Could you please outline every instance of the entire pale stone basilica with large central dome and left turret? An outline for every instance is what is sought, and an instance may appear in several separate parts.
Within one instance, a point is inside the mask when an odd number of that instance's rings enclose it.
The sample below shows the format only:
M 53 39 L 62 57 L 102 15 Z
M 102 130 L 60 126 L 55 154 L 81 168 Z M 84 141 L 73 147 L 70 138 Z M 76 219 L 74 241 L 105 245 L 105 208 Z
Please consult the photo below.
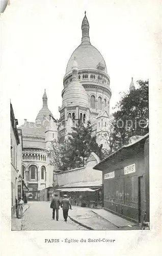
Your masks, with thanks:
M 47 156 L 52 139 L 62 143 L 71 132 L 71 127 L 82 120 L 90 121 L 98 144 L 103 144 L 99 134 L 109 125 L 110 76 L 101 53 L 91 45 L 89 22 L 82 22 L 82 40 L 69 58 L 64 76 L 60 119 L 56 120 L 48 109 L 46 92 L 42 98 L 42 109 L 35 122 L 24 119 L 22 130 L 22 178 L 30 191 L 52 186 L 53 166 Z M 107 146 L 106 144 L 103 146 Z

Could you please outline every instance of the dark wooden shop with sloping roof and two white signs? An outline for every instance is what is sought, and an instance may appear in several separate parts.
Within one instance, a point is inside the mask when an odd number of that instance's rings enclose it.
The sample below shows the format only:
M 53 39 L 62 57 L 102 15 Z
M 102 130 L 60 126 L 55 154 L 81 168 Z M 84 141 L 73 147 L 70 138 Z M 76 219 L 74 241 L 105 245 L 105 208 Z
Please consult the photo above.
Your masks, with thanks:
M 147 150 L 146 150 L 147 143 Z M 94 169 L 102 170 L 103 207 L 142 223 L 149 221 L 148 134 L 122 147 Z

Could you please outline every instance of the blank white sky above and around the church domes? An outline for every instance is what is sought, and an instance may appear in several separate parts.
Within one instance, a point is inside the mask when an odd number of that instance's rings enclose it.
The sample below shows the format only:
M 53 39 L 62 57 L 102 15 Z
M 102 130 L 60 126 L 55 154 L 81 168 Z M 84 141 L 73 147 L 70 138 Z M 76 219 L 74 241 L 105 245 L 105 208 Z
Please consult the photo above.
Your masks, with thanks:
M 24 119 L 35 121 L 44 89 L 48 108 L 59 119 L 63 77 L 81 42 L 85 11 L 91 44 L 102 54 L 110 76 L 113 112 L 131 77 L 136 87 L 137 80 L 149 78 L 157 8 L 149 0 L 11 0 L 0 17 L 0 90 L 11 99 L 19 125 Z

